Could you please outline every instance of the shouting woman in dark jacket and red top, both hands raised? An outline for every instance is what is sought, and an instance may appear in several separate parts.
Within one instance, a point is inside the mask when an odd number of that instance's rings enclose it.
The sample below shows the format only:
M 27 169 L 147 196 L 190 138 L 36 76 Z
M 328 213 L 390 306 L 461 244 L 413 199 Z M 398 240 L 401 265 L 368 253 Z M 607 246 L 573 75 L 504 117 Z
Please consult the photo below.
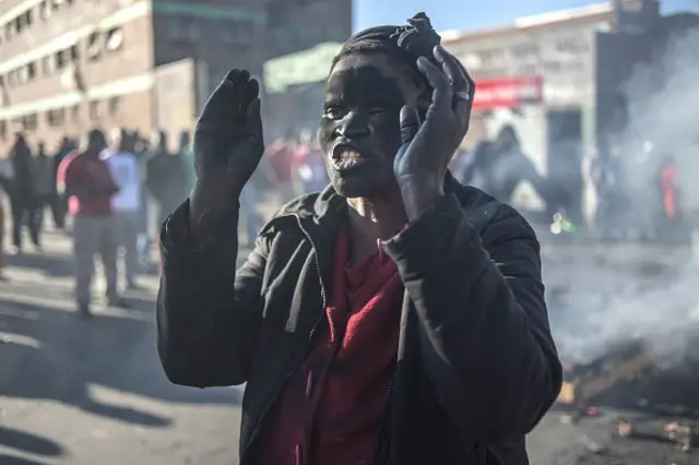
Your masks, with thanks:
M 211 95 L 163 226 L 157 346 L 174 383 L 246 383 L 241 465 L 529 463 L 561 366 L 534 231 L 447 169 L 474 91 L 424 13 L 353 36 L 318 130 L 330 186 L 237 271 L 259 86 L 234 69 Z

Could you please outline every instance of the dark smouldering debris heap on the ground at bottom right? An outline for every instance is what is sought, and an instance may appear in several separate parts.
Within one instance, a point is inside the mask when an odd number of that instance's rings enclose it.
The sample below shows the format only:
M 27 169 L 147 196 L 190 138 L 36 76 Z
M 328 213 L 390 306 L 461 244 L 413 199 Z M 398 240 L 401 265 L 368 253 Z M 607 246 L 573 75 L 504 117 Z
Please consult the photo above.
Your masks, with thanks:
M 695 458 L 670 462 L 664 458 L 690 454 L 699 443 L 697 385 L 696 363 L 685 360 L 663 366 L 651 345 L 633 342 L 618 345 L 590 363 L 566 370 L 557 404 L 572 410 L 564 417 L 568 418 L 565 422 L 574 422 L 581 431 L 600 429 L 606 419 L 611 427 L 607 442 L 590 441 L 594 446 L 587 448 L 588 454 L 612 454 L 626 464 L 635 463 L 633 456 L 643 456 L 640 451 L 654 449 L 666 451 L 660 453 L 662 465 L 697 463 L 686 462 Z M 583 418 L 588 419 L 582 421 Z M 627 458 L 631 462 L 626 462 Z

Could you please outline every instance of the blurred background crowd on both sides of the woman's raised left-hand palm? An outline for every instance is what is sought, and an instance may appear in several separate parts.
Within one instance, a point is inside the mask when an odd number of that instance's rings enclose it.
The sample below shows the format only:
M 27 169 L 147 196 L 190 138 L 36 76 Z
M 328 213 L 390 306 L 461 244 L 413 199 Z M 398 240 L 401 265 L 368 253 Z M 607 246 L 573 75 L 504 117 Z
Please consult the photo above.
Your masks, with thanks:
M 54 153 L 43 141 L 31 143 L 17 131 L 5 158 L 0 182 L 9 200 L 12 255 L 25 251 L 24 230 L 42 250 L 44 218 L 74 241 L 75 296 L 81 314 L 90 314 L 94 255 L 107 279 L 110 305 L 125 306 L 117 285 L 117 255 L 123 257 L 125 286 L 138 287 L 135 275 L 153 265 L 152 246 L 162 222 L 187 198 L 194 183 L 191 140 L 180 134 L 177 151 L 168 150 L 168 134 L 149 138 L 126 128 L 106 134 L 93 130 L 84 144 L 63 138 Z M 310 131 L 280 139 L 268 147 L 266 163 L 240 198 L 241 222 L 251 247 L 262 226 L 259 203 L 271 193 L 277 205 L 328 183 L 323 156 Z M 0 235 L 4 231 L 0 202 Z M 4 238 L 0 236 L 0 245 Z M 0 247 L 0 270 L 5 250 Z

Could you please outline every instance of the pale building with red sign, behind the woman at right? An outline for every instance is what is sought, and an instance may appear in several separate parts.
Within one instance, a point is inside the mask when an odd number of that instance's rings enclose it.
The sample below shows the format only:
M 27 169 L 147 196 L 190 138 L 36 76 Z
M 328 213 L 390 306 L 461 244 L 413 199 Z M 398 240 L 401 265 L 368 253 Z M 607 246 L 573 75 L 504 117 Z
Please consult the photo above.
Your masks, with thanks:
M 537 170 L 579 199 L 568 213 L 591 223 L 596 199 L 588 167 L 661 20 L 656 0 L 613 0 L 518 19 L 506 27 L 445 34 L 446 48 L 476 82 L 464 144 L 511 126 Z M 526 184 L 517 194 L 516 203 L 542 208 Z

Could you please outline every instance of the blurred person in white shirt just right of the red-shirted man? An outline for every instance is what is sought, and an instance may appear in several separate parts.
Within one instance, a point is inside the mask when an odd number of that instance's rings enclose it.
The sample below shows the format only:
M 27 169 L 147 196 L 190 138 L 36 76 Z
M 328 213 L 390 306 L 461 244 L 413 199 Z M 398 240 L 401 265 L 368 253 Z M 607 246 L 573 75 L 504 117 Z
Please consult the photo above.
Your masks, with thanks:
M 119 247 L 123 250 L 127 286 L 137 288 L 141 168 L 134 154 L 134 136 L 129 131 L 120 129 L 112 140 L 115 150 L 105 151 L 104 157 L 114 180 L 119 186 L 119 193 L 111 198 L 114 231 Z

